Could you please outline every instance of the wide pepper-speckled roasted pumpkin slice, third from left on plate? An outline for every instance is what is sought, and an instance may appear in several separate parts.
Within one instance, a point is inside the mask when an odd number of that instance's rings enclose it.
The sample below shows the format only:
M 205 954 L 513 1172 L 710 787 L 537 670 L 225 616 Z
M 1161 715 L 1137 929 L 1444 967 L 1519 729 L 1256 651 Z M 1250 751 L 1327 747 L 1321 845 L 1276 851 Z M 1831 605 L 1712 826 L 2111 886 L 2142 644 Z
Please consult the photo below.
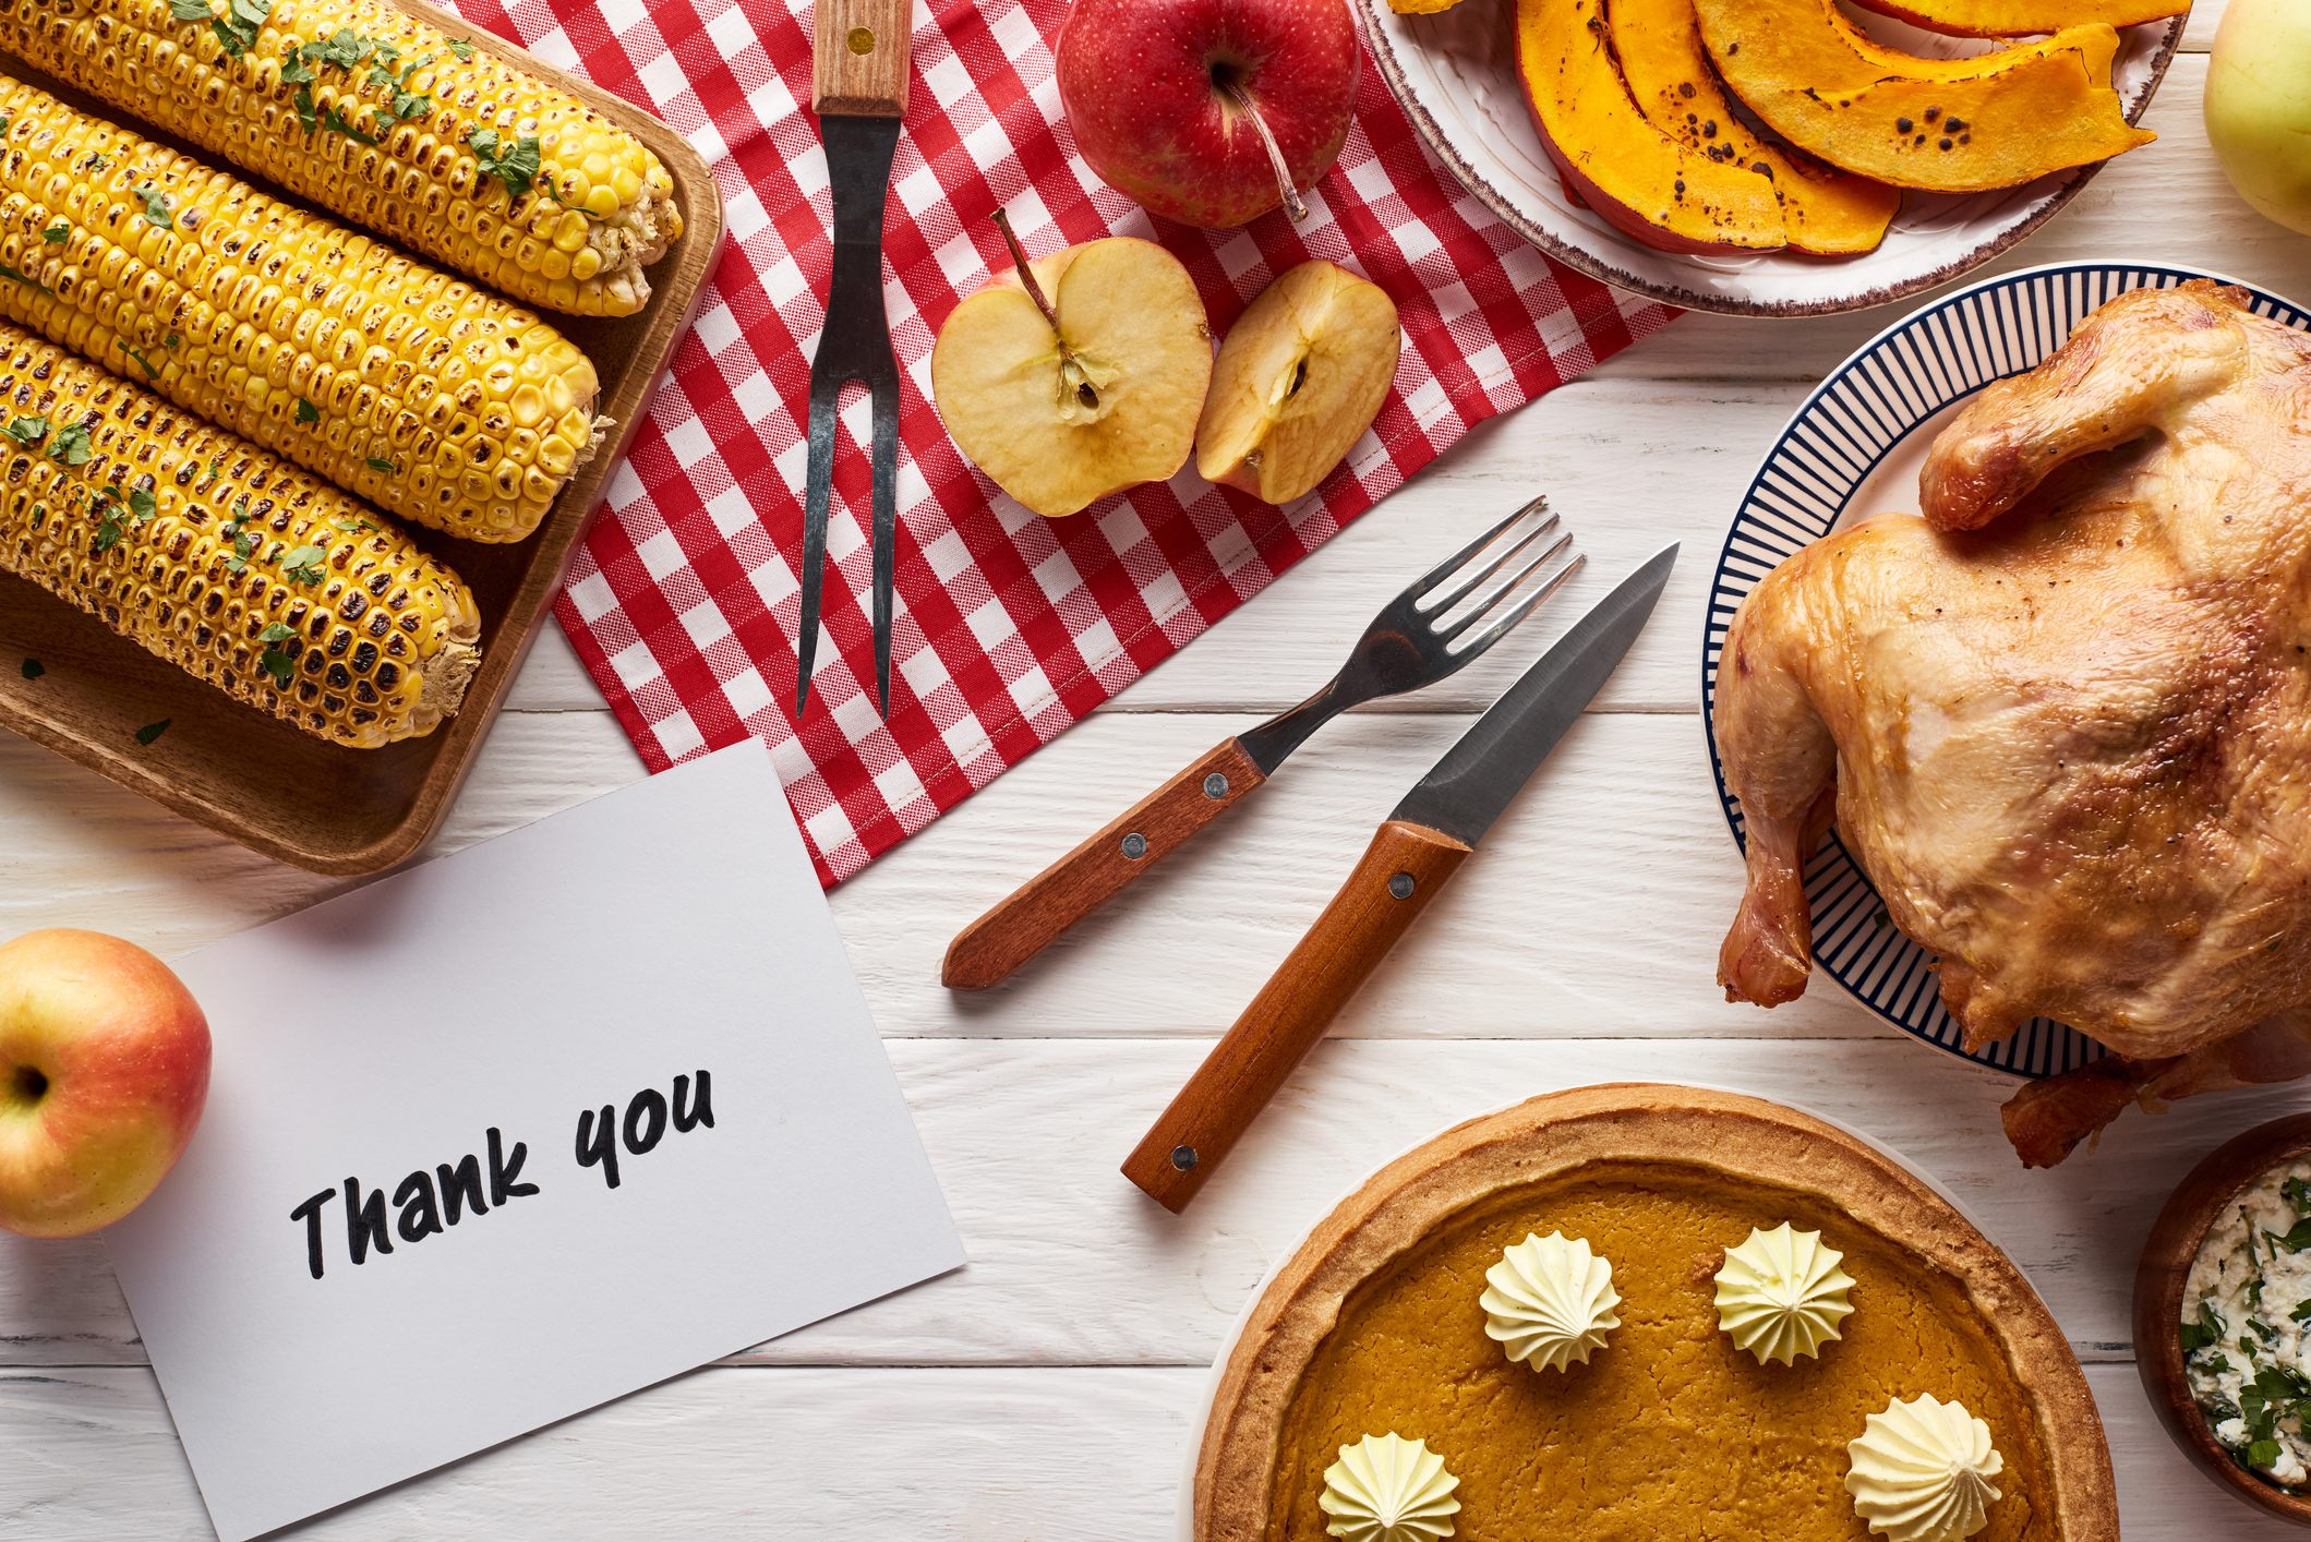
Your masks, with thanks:
M 1895 187 L 2013 187 L 2156 139 L 2119 111 L 2105 25 L 1923 60 L 1870 42 L 1830 0 L 1694 0 L 1694 14 L 1717 74 L 1766 127 Z

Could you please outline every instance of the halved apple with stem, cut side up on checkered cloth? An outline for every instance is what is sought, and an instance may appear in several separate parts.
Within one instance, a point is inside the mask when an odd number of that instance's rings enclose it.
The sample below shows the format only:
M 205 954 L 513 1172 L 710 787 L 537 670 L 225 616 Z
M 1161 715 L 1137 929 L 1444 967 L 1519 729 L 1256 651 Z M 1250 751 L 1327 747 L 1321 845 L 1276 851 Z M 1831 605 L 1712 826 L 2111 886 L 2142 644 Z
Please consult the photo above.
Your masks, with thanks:
M 1195 280 L 1153 240 L 1109 236 L 1028 261 L 948 314 L 931 398 L 954 444 L 1058 518 L 1188 465 L 1211 381 Z

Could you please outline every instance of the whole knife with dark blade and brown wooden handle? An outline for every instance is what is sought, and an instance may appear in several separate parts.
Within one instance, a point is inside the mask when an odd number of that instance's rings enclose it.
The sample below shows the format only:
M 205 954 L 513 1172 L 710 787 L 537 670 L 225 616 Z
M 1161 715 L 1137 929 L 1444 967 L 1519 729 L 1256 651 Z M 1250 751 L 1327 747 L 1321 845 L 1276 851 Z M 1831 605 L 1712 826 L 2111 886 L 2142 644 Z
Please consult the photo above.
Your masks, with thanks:
M 1678 548 L 1664 546 L 1495 700 L 1396 805 L 1357 869 L 1123 1161 L 1186 1209 L 1292 1068 L 1437 897 L 1645 629 Z

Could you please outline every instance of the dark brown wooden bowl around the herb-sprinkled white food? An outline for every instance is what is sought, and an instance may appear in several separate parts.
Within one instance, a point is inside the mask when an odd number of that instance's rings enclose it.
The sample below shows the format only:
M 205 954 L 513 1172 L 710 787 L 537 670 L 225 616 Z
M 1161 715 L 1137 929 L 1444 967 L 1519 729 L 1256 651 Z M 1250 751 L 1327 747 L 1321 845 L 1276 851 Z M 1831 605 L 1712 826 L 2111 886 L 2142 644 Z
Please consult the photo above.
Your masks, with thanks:
M 2297 1526 L 2311 1526 L 2311 1496 L 2281 1493 L 2242 1468 L 2207 1429 L 2182 1371 L 2182 1290 L 2207 1228 L 2230 1200 L 2283 1161 L 2311 1154 L 2311 1114 L 2272 1119 L 2207 1156 L 2168 1195 L 2135 1265 L 2135 1371 L 2158 1422 L 2207 1477 L 2239 1500 Z

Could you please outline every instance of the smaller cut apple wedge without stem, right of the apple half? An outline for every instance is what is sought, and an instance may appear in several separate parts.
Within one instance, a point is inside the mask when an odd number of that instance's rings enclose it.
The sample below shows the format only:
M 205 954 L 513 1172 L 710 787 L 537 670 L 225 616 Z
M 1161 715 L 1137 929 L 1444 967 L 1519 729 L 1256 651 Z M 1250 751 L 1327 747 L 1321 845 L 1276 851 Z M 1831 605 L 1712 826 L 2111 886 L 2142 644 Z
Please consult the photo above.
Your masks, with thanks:
M 1287 268 L 1220 342 L 1195 469 L 1290 504 L 1340 465 L 1396 379 L 1396 301 L 1329 261 Z

